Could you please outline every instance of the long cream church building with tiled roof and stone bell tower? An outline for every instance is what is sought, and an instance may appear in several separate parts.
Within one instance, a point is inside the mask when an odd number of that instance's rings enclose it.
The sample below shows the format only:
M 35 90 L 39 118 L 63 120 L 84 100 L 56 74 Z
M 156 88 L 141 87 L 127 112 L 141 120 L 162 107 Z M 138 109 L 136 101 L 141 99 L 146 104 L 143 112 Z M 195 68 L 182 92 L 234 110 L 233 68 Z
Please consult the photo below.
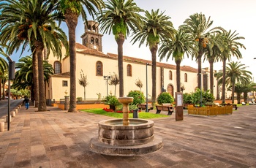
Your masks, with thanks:
M 81 36 L 83 44 L 76 44 L 76 96 L 86 100 L 97 100 L 112 94 L 118 97 L 119 86 L 108 85 L 110 75 L 118 75 L 118 56 L 116 53 L 103 53 L 102 34 L 99 34 L 98 24 L 95 21 L 88 21 L 85 26 L 85 33 Z M 117 46 L 116 46 L 117 48 Z M 117 50 L 117 49 L 116 49 Z M 63 48 L 63 52 L 65 52 Z M 69 96 L 70 74 L 69 57 L 58 60 L 52 55 L 48 58 L 48 63 L 53 65 L 54 75 L 50 77 L 49 83 L 45 87 L 46 99 L 64 99 Z M 124 96 L 129 91 L 140 90 L 135 85 L 137 80 L 143 83 L 143 91 L 146 96 L 148 88 L 148 99 L 151 99 L 151 61 L 140 58 L 124 56 Z M 208 90 L 209 71 L 202 69 L 203 90 Z M 84 89 L 79 84 L 80 74 L 87 76 L 89 83 Z M 181 85 L 184 85 L 184 93 L 191 93 L 197 88 L 197 69 L 190 66 L 181 66 Z M 146 87 L 148 83 L 148 87 Z M 217 80 L 214 80 L 217 85 Z M 214 96 L 217 96 L 217 87 Z M 84 97 L 84 90 L 86 97 Z M 176 88 L 176 65 L 157 62 L 157 95 L 162 91 L 167 91 L 173 97 L 177 91 Z

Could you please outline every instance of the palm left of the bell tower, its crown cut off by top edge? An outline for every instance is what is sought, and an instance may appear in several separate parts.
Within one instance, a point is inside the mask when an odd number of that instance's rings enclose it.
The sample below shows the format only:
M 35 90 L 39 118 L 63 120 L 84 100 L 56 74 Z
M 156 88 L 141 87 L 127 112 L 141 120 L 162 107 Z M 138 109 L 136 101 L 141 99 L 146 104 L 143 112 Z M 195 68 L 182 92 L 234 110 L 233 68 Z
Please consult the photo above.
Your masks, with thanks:
M 69 112 L 76 112 L 76 50 L 75 28 L 78 25 L 78 17 L 82 16 L 87 21 L 86 7 L 89 15 L 94 15 L 97 9 L 102 9 L 105 4 L 102 0 L 61 0 L 59 1 L 61 12 L 69 29 L 69 62 L 70 62 L 70 101 Z

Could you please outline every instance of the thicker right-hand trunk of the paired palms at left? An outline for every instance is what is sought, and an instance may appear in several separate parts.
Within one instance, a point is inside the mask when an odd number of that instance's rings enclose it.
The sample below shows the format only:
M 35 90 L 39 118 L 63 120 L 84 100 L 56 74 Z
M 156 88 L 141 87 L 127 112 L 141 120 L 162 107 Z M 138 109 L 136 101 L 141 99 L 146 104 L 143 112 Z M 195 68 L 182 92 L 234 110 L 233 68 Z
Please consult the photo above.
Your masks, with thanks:
M 45 99 L 45 79 L 44 79 L 44 69 L 43 69 L 43 59 L 42 59 L 42 50 L 43 44 L 42 42 L 37 41 L 37 59 L 38 59 L 38 86 L 39 86 L 39 104 L 38 111 L 46 111 L 46 99 Z

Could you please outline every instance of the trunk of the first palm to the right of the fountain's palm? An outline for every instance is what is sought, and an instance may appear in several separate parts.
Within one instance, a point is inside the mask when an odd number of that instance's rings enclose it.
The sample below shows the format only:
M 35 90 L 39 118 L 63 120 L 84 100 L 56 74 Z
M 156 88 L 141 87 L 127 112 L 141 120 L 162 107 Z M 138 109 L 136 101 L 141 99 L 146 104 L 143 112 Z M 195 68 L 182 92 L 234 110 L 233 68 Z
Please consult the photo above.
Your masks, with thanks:
M 152 105 L 157 100 L 157 45 L 150 49 L 152 56 Z

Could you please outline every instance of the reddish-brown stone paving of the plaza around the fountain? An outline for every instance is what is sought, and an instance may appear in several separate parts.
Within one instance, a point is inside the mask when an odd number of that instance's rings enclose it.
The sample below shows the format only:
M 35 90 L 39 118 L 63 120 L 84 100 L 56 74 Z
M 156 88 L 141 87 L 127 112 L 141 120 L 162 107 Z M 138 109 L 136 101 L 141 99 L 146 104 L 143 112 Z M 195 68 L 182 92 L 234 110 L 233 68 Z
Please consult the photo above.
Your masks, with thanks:
M 163 148 L 137 157 L 91 150 L 98 122 L 110 117 L 48 110 L 23 108 L 10 131 L 0 132 L 0 167 L 256 167 L 256 106 L 213 117 L 184 112 L 184 121 L 175 115 L 152 119 Z

